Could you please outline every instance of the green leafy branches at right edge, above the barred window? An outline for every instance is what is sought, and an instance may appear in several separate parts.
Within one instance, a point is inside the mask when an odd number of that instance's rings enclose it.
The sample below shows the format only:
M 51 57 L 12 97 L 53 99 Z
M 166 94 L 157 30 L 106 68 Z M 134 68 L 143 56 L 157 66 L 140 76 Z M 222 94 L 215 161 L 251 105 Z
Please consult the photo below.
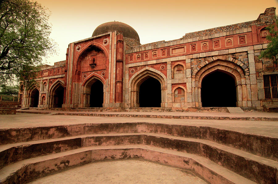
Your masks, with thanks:
M 274 63 L 278 62 L 278 17 L 276 15 L 276 24 L 266 27 L 269 31 L 269 35 L 267 35 L 266 39 L 270 41 L 267 45 L 267 48 L 261 52 L 259 59 L 267 58 L 269 60 L 273 60 Z

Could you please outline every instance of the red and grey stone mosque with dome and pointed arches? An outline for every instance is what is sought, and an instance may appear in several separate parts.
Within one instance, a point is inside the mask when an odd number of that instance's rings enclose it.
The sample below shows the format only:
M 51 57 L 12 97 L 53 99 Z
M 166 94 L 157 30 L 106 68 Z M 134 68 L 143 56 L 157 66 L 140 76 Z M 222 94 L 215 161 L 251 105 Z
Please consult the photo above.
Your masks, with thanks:
M 92 37 L 69 44 L 65 61 L 43 65 L 36 86 L 20 87 L 22 107 L 277 105 L 277 65 L 258 59 L 275 18 L 275 8 L 267 8 L 254 21 L 144 45 L 127 24 L 101 24 Z

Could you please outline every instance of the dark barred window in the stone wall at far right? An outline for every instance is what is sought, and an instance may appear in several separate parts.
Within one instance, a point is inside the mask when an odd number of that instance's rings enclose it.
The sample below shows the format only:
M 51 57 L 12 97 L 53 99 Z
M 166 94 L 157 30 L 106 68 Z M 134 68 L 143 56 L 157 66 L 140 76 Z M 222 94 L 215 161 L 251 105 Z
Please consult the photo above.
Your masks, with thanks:
M 264 75 L 263 83 L 265 99 L 278 98 L 277 75 Z

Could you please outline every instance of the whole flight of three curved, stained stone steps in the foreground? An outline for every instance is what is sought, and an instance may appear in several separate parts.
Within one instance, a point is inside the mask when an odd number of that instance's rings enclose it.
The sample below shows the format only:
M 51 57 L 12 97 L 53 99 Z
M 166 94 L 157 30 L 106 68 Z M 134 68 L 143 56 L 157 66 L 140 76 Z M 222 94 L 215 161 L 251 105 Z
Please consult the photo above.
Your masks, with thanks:
M 0 183 L 24 183 L 90 162 L 144 159 L 209 183 L 278 183 L 278 139 L 162 123 L 88 123 L 0 130 Z

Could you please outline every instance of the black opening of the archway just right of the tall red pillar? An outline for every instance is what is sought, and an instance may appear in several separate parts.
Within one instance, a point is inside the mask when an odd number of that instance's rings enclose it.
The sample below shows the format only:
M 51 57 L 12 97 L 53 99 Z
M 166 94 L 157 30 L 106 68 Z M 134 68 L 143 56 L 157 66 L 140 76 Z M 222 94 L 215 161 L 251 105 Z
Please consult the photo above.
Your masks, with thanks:
M 150 77 L 139 88 L 139 107 L 161 107 L 161 84 Z

